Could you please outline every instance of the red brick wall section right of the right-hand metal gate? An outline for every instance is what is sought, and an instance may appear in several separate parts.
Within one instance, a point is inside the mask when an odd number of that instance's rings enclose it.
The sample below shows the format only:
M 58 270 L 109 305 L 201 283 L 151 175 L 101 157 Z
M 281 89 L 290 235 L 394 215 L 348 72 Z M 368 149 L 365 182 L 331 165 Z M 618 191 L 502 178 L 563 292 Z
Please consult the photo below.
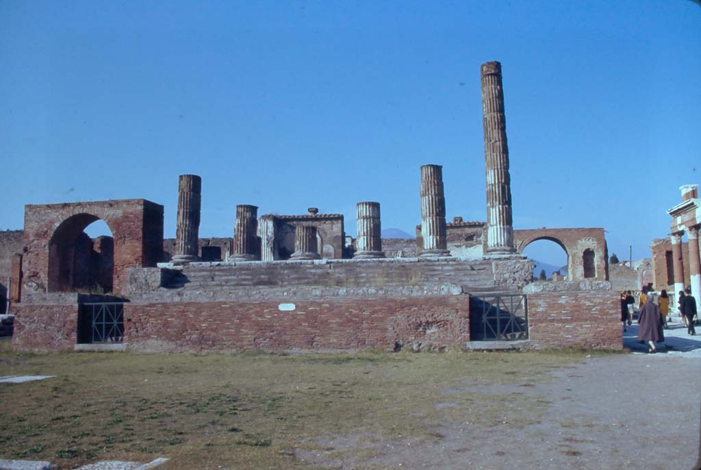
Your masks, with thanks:
M 622 349 L 615 291 L 529 294 L 528 315 L 531 347 Z

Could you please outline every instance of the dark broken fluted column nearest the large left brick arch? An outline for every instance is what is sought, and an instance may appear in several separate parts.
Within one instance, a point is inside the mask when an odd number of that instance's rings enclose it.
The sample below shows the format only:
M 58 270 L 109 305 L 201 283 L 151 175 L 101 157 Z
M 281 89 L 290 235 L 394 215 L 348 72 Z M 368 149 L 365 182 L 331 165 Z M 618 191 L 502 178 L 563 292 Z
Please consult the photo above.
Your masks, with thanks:
M 175 255 L 172 261 L 197 261 L 202 178 L 181 174 L 178 182 Z

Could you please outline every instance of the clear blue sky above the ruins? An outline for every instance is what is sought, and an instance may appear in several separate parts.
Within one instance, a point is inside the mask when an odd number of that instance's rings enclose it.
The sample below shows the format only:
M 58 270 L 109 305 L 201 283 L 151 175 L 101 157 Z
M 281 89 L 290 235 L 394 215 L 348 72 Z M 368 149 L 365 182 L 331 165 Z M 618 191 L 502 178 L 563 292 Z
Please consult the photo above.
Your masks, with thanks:
M 604 227 L 649 256 L 701 183 L 701 8 L 666 1 L 0 0 L 0 229 L 25 204 L 145 198 L 200 236 L 237 204 L 486 219 L 479 65 L 503 65 L 515 228 Z M 543 261 L 548 261 L 543 259 Z

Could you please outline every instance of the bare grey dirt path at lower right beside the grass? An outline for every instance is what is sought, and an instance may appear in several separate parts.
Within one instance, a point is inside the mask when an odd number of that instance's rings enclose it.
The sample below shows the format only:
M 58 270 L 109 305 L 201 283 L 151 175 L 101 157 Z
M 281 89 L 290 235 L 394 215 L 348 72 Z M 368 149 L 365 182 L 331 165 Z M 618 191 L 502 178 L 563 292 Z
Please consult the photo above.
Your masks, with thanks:
M 461 424 L 437 424 L 432 442 L 397 436 L 368 445 L 358 436 L 339 436 L 328 441 L 334 451 L 299 452 L 297 458 L 344 470 L 699 468 L 701 359 L 621 354 L 550 375 L 547 383 L 516 385 L 465 380 L 459 390 L 536 396 L 543 411 L 531 424 L 513 426 L 505 403 L 501 426 L 481 427 L 466 413 Z M 455 392 L 443 390 L 436 406 L 454 408 Z M 356 452 L 339 457 L 342 448 Z

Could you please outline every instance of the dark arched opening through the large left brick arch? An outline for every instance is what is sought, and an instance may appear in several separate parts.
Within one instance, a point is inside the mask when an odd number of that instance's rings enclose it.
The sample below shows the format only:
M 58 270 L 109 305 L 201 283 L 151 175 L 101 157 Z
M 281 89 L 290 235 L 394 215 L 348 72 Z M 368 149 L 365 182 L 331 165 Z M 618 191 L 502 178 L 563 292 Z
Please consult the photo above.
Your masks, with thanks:
M 114 239 L 93 214 L 64 220 L 49 242 L 48 291 L 109 293 L 114 282 Z

